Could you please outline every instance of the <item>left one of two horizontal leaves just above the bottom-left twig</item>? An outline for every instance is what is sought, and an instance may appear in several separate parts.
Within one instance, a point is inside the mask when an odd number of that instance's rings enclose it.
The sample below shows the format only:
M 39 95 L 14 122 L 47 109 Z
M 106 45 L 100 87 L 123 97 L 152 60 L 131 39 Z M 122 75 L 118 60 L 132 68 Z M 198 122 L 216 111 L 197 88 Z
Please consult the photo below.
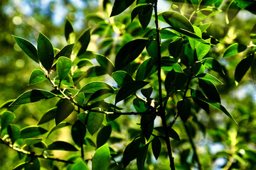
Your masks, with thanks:
M 28 126 L 26 128 L 21 129 L 20 138 L 24 139 L 36 137 L 38 135 L 43 135 L 46 132 L 48 132 L 48 130 L 45 130 L 44 128 L 41 128 L 39 126 Z

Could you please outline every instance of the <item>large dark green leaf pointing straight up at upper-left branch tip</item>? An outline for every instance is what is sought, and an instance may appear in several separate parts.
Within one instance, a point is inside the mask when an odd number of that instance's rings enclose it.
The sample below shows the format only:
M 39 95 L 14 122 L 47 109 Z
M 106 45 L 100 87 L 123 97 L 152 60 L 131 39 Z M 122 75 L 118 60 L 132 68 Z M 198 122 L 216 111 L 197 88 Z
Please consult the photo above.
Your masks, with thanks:
M 43 67 L 49 71 L 53 65 L 54 60 L 54 52 L 53 45 L 50 40 L 43 35 L 43 33 L 39 33 L 38 36 L 38 58 L 43 65 Z

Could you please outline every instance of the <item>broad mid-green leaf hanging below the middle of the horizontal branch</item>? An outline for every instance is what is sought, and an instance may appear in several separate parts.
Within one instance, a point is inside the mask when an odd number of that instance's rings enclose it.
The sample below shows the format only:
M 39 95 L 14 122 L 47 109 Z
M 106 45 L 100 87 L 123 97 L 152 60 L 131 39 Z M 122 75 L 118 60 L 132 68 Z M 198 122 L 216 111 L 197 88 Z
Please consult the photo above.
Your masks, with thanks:
M 91 135 L 94 135 L 95 132 L 99 130 L 103 120 L 104 120 L 103 113 L 97 113 L 93 111 L 89 113 L 88 120 L 87 120 L 87 130 L 90 132 Z

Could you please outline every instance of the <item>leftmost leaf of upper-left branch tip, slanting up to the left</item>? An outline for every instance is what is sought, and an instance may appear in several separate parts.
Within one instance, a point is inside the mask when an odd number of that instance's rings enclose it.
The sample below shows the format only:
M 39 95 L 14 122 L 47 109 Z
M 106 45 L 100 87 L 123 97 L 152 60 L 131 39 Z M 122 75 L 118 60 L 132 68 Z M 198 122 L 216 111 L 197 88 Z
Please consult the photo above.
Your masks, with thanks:
M 17 36 L 14 36 L 14 39 L 16 43 L 18 44 L 18 47 L 21 47 L 21 50 L 28 55 L 32 60 L 38 63 L 38 55 L 37 55 L 37 50 L 36 47 L 28 40 L 24 38 L 20 38 Z

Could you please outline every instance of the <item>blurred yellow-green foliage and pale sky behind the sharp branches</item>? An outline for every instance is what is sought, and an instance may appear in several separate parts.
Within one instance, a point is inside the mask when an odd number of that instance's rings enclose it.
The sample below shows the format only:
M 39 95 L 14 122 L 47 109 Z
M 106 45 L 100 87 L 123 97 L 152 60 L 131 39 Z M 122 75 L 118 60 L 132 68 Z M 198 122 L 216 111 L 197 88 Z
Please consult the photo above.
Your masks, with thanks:
M 129 42 L 136 36 L 142 37 L 146 33 L 146 30 L 139 26 L 137 18 L 131 23 L 129 13 L 109 18 L 111 6 L 107 6 L 107 12 L 104 12 L 102 2 L 100 0 L 0 1 L 0 105 L 5 101 L 17 98 L 23 91 L 35 89 L 38 86 L 27 85 L 30 73 L 37 66 L 24 52 L 21 52 L 11 35 L 26 38 L 36 45 L 38 33 L 41 31 L 50 38 L 54 47 L 61 48 L 67 44 L 64 37 L 64 24 L 65 19 L 68 18 L 73 23 L 77 37 L 86 28 L 91 28 L 92 41 L 88 50 L 109 56 L 111 59 L 116 54 L 115 51 L 124 43 Z M 168 10 L 171 3 L 167 0 L 159 1 L 159 11 Z M 256 164 L 256 133 L 254 131 L 256 128 L 256 85 L 250 77 L 250 71 L 247 72 L 238 86 L 235 85 L 234 80 L 235 67 L 250 51 L 246 50 L 238 55 L 223 58 L 225 49 L 234 42 L 253 46 L 250 43 L 250 31 L 256 23 L 256 16 L 249 11 L 241 10 L 228 23 L 226 13 L 229 3 L 229 0 L 224 1 L 223 5 L 220 6 L 222 12 L 208 19 L 207 22 L 211 22 L 211 26 L 206 34 L 212 35 L 220 41 L 218 45 L 211 49 L 208 56 L 218 58 L 223 64 L 225 76 L 215 74 L 216 77 L 225 82 L 225 85 L 218 86 L 218 90 L 223 105 L 233 114 L 239 125 L 236 125 L 223 113 L 219 113 L 213 108 L 210 108 L 211 113 L 208 115 L 205 111 L 193 111 L 195 116 L 191 116 L 186 124 L 189 133 L 193 137 L 204 169 L 240 169 L 240 167 L 256 169 L 254 165 Z M 181 6 L 182 1 L 176 4 Z M 186 8 L 186 6 L 183 6 L 183 8 Z M 229 10 L 231 10 L 230 13 L 237 13 L 235 8 Z M 100 21 L 97 21 L 97 17 L 90 17 L 92 13 L 97 13 L 105 20 L 100 23 Z M 151 20 L 151 25 L 153 26 L 153 24 L 154 21 Z M 105 27 L 107 26 L 110 26 L 110 28 L 104 32 L 103 30 L 106 30 Z M 116 46 L 107 46 L 107 43 L 113 40 Z M 105 45 L 103 42 L 105 42 Z M 154 81 L 153 78 L 152 81 Z M 45 89 L 50 88 L 50 84 L 47 82 L 40 84 L 41 86 L 44 86 Z M 41 115 L 53 106 L 53 102 L 55 101 L 49 100 L 45 101 L 43 105 L 41 103 L 31 103 L 20 106 L 15 111 L 16 119 L 14 123 L 20 128 L 26 125 L 36 125 Z M 134 111 L 133 106 L 126 109 Z M 132 115 L 122 116 L 117 120 L 116 123 L 119 124 L 120 132 L 123 133 L 122 138 L 125 139 L 126 143 L 116 147 L 121 147 L 120 149 L 123 147 L 124 149 L 124 146 L 133 137 L 132 130 L 136 132 L 139 129 L 139 126 L 136 125 L 138 122 L 139 118 L 136 119 L 136 116 Z M 46 127 L 49 129 L 52 125 L 46 125 Z M 65 134 L 65 130 L 68 131 L 68 129 L 63 129 L 60 132 Z M 177 121 L 174 130 L 181 137 L 181 142 L 172 140 L 171 143 L 174 149 L 176 166 L 180 167 L 179 169 L 187 169 L 186 167 L 193 164 L 194 159 L 186 129 L 183 127 L 181 120 Z M 129 131 L 129 134 L 127 131 Z M 56 132 L 55 136 L 52 135 L 52 137 L 57 137 L 60 132 Z M 69 135 L 61 135 L 61 137 L 62 140 L 65 137 L 70 141 Z M 0 145 L 0 149 L 0 169 L 11 169 L 19 163 L 16 152 L 4 145 Z M 166 169 L 166 164 L 169 164 L 166 157 L 167 153 L 161 154 L 157 162 L 149 157 L 149 159 L 146 159 L 146 169 Z M 136 169 L 135 167 L 136 163 L 129 166 L 129 169 Z

